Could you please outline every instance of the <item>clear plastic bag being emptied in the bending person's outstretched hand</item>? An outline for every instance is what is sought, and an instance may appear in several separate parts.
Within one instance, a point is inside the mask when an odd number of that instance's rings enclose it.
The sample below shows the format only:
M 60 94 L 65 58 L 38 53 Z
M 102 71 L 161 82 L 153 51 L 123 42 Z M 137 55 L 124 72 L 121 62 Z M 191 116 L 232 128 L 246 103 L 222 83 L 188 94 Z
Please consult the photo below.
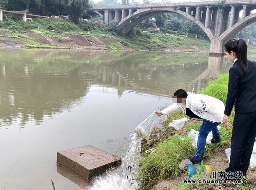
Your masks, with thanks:
M 135 128 L 137 138 L 144 138 L 149 140 L 149 136 L 158 122 L 159 116 L 157 116 L 155 112 L 153 112 Z

